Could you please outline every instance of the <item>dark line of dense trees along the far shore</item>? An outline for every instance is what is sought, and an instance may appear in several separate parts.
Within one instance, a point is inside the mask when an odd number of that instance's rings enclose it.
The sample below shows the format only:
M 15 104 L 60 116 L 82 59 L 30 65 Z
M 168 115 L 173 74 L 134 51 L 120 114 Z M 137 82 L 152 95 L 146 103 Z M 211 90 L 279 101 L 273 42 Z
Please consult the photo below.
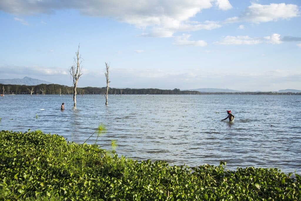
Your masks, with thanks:
M 39 94 L 72 94 L 73 87 L 59 84 L 40 84 L 36 86 L 27 85 L 12 85 L 4 84 L 0 85 L 0 92 L 4 94 L 30 94 L 33 90 L 33 95 Z M 78 87 L 76 89 L 77 94 L 105 94 L 106 87 Z M 116 89 L 109 88 L 109 94 L 242 94 L 242 95 L 301 95 L 301 93 L 277 93 L 277 92 L 199 92 L 199 91 L 181 91 L 180 89 L 174 90 L 161 90 L 161 89 Z

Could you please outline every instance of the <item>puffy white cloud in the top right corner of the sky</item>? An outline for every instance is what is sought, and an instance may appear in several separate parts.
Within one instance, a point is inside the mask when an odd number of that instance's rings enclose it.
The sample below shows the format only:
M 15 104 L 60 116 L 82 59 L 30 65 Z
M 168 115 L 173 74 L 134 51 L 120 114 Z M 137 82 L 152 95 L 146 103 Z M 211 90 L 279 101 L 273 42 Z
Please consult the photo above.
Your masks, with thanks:
M 300 15 L 299 7 L 293 4 L 270 4 L 261 5 L 252 3 L 239 17 L 231 17 L 225 20 L 226 23 L 248 21 L 261 23 L 277 21 L 279 19 L 290 19 Z

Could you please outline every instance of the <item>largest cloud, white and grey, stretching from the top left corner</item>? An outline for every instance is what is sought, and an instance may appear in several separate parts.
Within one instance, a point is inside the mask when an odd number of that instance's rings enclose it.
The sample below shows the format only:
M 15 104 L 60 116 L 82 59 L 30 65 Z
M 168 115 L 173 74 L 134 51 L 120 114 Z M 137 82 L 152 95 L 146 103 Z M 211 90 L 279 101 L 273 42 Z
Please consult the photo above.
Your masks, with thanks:
M 18 15 L 33 15 L 54 13 L 60 9 L 76 9 L 84 15 L 109 17 L 144 30 L 151 29 L 150 33 L 142 36 L 171 37 L 178 31 L 212 30 L 221 27 L 218 22 L 189 21 L 203 9 L 214 5 L 222 10 L 232 8 L 228 0 L 2 0 L 0 10 Z

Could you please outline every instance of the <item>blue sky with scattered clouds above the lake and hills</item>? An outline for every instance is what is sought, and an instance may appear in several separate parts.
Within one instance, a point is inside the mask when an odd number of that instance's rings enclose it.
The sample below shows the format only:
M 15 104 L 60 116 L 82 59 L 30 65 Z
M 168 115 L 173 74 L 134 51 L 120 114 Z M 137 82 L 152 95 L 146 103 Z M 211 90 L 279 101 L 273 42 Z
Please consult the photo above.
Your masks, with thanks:
M 79 87 L 301 90 L 299 0 L 2 0 L 0 79 Z

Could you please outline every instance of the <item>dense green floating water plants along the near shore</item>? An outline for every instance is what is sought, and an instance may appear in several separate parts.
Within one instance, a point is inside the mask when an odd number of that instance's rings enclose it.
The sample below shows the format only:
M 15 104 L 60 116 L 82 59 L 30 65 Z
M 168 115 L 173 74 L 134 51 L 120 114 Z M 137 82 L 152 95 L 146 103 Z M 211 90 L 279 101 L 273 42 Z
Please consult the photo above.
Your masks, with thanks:
M 0 200 L 301 200 L 300 176 L 275 168 L 138 162 L 40 130 L 0 139 Z

